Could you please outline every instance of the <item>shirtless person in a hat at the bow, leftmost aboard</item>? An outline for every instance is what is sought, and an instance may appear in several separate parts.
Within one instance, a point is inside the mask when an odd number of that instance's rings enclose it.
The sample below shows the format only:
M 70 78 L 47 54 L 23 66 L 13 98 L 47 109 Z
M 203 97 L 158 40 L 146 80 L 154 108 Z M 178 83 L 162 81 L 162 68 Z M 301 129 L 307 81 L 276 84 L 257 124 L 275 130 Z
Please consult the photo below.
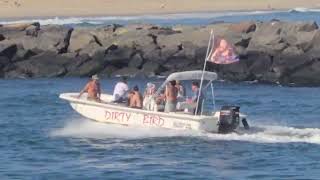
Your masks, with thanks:
M 80 92 L 78 98 L 82 96 L 83 93 L 88 93 L 87 99 L 91 101 L 101 102 L 101 88 L 99 83 L 98 75 L 93 75 L 91 80 L 86 84 L 86 86 Z

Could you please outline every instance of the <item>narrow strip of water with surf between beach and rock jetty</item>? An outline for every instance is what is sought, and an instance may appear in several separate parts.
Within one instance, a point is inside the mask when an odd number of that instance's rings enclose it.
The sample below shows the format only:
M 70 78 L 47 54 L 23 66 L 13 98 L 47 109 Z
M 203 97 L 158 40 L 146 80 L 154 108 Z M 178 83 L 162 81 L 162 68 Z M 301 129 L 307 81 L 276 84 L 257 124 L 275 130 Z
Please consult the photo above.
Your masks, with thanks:
M 320 9 L 295 8 L 291 10 L 273 11 L 228 11 L 178 14 L 146 14 L 137 16 L 92 16 L 92 17 L 50 17 L 28 19 L 0 19 L 0 24 L 40 22 L 42 25 L 58 24 L 68 26 L 103 26 L 108 24 L 158 24 L 163 26 L 207 25 L 216 22 L 240 21 L 316 21 L 320 22 Z

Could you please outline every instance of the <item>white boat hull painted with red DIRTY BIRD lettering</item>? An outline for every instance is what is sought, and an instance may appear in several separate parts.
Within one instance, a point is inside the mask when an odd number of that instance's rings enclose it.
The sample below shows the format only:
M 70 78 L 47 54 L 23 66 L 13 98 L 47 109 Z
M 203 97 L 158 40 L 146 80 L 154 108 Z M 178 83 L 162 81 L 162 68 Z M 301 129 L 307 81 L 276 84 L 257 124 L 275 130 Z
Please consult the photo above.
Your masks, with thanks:
M 76 96 L 77 93 L 65 93 L 61 94 L 60 98 L 69 101 L 71 107 L 82 116 L 98 122 L 126 126 L 218 132 L 219 113 L 212 116 L 195 116 L 184 112 L 153 112 L 112 104 L 110 95 L 102 96 L 102 100 L 106 103 L 87 101 L 86 98 L 78 99 Z

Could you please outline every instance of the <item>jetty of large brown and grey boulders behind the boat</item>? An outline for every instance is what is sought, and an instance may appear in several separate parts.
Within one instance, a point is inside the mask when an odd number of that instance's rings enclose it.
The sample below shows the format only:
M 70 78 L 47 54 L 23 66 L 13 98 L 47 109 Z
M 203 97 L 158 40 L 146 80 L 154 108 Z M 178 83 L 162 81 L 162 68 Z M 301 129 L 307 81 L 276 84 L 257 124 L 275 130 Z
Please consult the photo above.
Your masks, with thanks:
M 172 27 L 0 25 L 0 78 L 151 77 L 202 69 L 211 29 L 240 56 L 234 64 L 208 65 L 220 79 L 320 85 L 318 25 L 278 20 Z

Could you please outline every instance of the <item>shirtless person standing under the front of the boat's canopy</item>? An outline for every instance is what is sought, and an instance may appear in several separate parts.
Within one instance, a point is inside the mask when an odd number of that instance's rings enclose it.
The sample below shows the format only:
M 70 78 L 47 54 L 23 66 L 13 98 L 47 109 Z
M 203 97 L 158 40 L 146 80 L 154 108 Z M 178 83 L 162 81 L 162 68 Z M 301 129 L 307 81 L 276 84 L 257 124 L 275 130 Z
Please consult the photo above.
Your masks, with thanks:
M 166 105 L 165 112 L 175 112 L 177 107 L 178 88 L 176 87 L 176 81 L 170 81 L 166 87 Z

